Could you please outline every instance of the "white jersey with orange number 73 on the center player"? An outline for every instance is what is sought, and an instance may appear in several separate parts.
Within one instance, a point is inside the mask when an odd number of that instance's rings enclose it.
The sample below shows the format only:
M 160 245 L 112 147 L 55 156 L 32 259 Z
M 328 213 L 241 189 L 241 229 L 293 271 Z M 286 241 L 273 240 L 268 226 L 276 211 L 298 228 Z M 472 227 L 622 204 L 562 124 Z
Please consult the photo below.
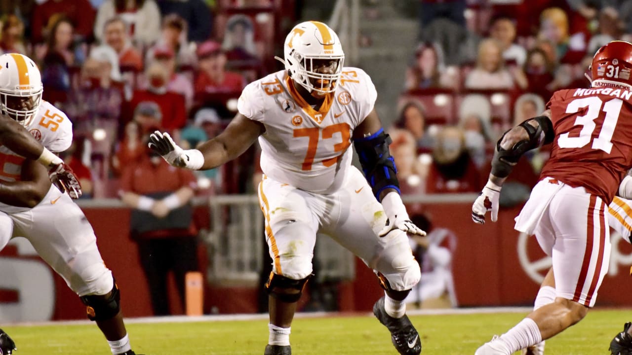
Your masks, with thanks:
M 241 114 L 265 126 L 261 169 L 276 181 L 332 193 L 351 166 L 353 130 L 373 110 L 377 92 L 362 69 L 343 68 L 319 111 L 296 91 L 287 71 L 253 81 L 238 101 Z

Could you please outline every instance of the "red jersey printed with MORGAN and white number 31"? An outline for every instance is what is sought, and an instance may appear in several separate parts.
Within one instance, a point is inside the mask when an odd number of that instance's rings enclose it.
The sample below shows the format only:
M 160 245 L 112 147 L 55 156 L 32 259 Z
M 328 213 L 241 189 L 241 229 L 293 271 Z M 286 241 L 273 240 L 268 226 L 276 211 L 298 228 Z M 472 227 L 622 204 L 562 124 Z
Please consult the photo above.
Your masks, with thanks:
M 632 91 L 596 87 L 559 90 L 547 109 L 555 130 L 549 176 L 610 202 L 632 167 Z

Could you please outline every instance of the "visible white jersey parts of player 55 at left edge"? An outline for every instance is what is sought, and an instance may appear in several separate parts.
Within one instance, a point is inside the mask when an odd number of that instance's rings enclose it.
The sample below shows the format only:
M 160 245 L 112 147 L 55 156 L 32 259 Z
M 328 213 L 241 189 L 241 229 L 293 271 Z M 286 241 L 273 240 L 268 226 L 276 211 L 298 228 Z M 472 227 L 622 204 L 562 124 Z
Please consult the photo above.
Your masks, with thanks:
M 26 128 L 36 140 L 54 153 L 68 149 L 73 140 L 73 125 L 70 119 L 64 112 L 46 101 L 42 101 L 35 117 Z M 24 160 L 25 158 L 18 153 L 4 145 L 0 146 L 0 180 L 20 181 Z M 26 209 L 28 208 L 0 203 L 0 211 L 3 212 L 11 213 Z

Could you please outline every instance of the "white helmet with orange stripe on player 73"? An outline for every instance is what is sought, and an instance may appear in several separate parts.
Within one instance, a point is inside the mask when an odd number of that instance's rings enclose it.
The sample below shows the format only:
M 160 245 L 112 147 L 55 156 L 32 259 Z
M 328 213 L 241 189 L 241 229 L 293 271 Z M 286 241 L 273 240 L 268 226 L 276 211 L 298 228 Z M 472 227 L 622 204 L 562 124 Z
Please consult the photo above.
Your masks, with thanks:
M 285 64 L 292 80 L 306 88 L 308 92 L 312 92 L 312 90 L 318 93 L 334 91 L 343 72 L 344 63 L 343 46 L 334 30 L 322 22 L 301 22 L 289 32 L 285 39 L 283 51 L 285 60 L 281 60 L 279 57 L 277 59 Z M 317 67 L 313 63 L 314 59 L 335 59 L 337 66 L 334 73 L 317 73 Z

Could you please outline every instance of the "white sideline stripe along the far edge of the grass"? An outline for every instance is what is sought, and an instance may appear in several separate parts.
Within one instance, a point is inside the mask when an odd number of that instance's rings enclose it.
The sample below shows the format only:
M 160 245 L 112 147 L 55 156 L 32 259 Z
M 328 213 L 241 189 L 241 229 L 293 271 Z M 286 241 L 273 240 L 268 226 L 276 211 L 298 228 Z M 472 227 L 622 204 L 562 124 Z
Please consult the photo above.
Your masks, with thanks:
M 418 316 L 418 315 L 472 315 L 478 313 L 528 313 L 533 310 L 533 307 L 483 307 L 483 308 L 444 308 L 437 310 L 410 310 L 406 311 L 406 314 Z M 370 315 L 372 313 L 340 313 L 340 312 L 300 312 L 296 313 L 295 318 L 325 318 L 336 316 L 363 316 Z M 125 318 L 126 324 L 139 324 L 139 323 L 193 323 L 193 322 L 227 322 L 234 320 L 267 320 L 267 313 L 248 313 L 248 314 L 235 314 L 235 315 L 204 315 L 204 316 L 155 316 L 155 317 L 139 317 L 139 318 Z M 22 322 L 22 323 L 8 323 L 13 327 L 31 327 L 37 326 L 56 326 L 59 325 L 85 325 L 92 324 L 89 320 L 59 320 L 49 322 Z

